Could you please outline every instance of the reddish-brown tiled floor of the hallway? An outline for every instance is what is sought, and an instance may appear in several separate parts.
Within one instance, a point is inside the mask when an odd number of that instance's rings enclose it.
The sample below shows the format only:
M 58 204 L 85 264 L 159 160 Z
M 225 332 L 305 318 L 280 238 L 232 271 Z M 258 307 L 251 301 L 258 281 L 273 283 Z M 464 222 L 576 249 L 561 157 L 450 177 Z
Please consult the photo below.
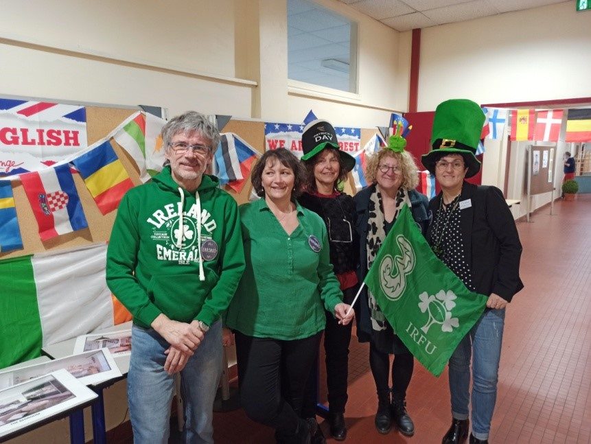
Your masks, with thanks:
M 591 194 L 549 212 L 517 224 L 525 288 L 507 309 L 491 443 L 591 442 Z M 407 397 L 415 436 L 380 435 L 368 348 L 351 340 L 345 442 L 440 443 L 450 424 L 447 371 L 435 378 L 417 363 Z M 275 442 L 242 410 L 216 413 L 214 430 L 221 444 Z

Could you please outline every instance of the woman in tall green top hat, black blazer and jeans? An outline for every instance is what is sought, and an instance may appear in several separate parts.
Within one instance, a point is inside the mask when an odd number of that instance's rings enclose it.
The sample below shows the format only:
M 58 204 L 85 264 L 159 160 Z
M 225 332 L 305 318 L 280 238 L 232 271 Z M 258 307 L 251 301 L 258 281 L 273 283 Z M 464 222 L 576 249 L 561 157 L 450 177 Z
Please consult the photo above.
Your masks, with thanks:
M 433 221 L 427 240 L 434 253 L 474 292 L 489 296 L 487 308 L 450 358 L 452 425 L 443 444 L 487 443 L 498 381 L 505 307 L 523 288 L 519 277 L 521 244 L 513 215 L 496 187 L 465 181 L 480 170 L 475 153 L 485 116 L 471 100 L 437 106 L 432 150 L 423 165 L 441 186 L 429 203 Z

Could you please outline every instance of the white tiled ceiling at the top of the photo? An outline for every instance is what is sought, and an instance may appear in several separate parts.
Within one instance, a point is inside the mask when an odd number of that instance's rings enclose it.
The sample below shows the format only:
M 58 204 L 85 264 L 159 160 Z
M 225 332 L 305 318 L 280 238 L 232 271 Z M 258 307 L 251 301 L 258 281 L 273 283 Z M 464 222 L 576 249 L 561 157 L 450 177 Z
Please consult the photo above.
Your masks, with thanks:
M 339 0 L 397 31 L 527 10 L 568 0 Z

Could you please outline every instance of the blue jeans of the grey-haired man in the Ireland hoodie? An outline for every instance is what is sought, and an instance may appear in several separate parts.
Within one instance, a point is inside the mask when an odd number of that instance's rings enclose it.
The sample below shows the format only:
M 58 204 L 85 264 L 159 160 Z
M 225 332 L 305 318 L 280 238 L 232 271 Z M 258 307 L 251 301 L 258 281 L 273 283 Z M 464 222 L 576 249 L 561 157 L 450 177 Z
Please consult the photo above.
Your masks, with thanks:
M 127 396 L 134 442 L 168 443 L 173 375 L 164 371 L 168 342 L 154 329 L 134 325 Z M 222 374 L 222 322 L 211 325 L 181 371 L 185 407 L 183 443 L 213 443 L 213 399 Z

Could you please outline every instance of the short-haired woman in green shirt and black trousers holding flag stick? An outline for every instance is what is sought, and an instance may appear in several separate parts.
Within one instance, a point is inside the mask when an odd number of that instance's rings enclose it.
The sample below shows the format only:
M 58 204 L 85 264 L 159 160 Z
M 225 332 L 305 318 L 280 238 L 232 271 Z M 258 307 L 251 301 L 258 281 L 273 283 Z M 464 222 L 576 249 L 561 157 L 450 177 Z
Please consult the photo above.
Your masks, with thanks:
M 240 206 L 246 270 L 226 317 L 235 332 L 242 407 L 285 443 L 309 443 L 316 432 L 316 421 L 300 412 L 324 310 L 343 325 L 353 318 L 352 310 L 345 316 L 326 226 L 296 202 L 305 176 L 283 148 L 255 165 L 251 180 L 262 199 Z

